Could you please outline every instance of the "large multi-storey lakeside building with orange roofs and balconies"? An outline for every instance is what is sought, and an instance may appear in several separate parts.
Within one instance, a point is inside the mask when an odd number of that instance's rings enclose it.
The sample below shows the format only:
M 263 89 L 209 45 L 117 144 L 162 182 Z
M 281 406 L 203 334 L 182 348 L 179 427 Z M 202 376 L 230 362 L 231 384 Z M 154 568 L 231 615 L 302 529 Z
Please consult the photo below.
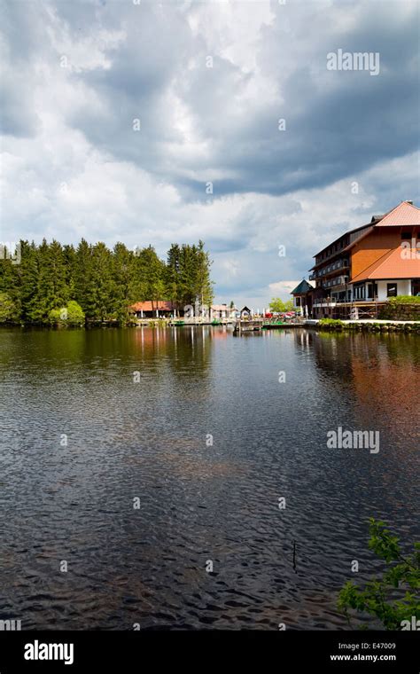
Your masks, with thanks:
M 354 306 L 366 310 L 396 295 L 419 294 L 419 240 L 420 208 L 402 201 L 315 255 L 309 276 L 315 290 L 307 290 L 300 302 L 312 300 L 315 318 L 348 317 Z

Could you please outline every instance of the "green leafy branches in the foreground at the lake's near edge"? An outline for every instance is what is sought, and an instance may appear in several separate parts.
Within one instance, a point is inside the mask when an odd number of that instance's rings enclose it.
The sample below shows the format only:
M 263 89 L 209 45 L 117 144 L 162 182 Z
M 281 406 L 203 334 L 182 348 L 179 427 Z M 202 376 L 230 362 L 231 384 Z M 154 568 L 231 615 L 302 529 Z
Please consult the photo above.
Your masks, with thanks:
M 351 609 L 374 616 L 386 630 L 401 630 L 402 621 L 420 618 L 420 543 L 404 557 L 399 538 L 386 529 L 385 522 L 374 518 L 369 518 L 369 536 L 369 549 L 385 561 L 385 570 L 362 589 L 348 581 L 339 593 L 338 608 L 348 623 Z

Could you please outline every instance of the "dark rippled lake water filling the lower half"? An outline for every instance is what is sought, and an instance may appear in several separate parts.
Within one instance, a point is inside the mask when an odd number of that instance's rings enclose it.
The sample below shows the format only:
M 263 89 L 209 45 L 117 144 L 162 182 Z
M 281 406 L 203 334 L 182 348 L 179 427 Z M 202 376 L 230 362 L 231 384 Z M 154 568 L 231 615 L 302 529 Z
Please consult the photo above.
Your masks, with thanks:
M 366 518 L 418 534 L 416 336 L 2 329 L 0 363 L 0 619 L 22 630 L 346 629 Z M 327 448 L 338 426 L 380 451 Z

